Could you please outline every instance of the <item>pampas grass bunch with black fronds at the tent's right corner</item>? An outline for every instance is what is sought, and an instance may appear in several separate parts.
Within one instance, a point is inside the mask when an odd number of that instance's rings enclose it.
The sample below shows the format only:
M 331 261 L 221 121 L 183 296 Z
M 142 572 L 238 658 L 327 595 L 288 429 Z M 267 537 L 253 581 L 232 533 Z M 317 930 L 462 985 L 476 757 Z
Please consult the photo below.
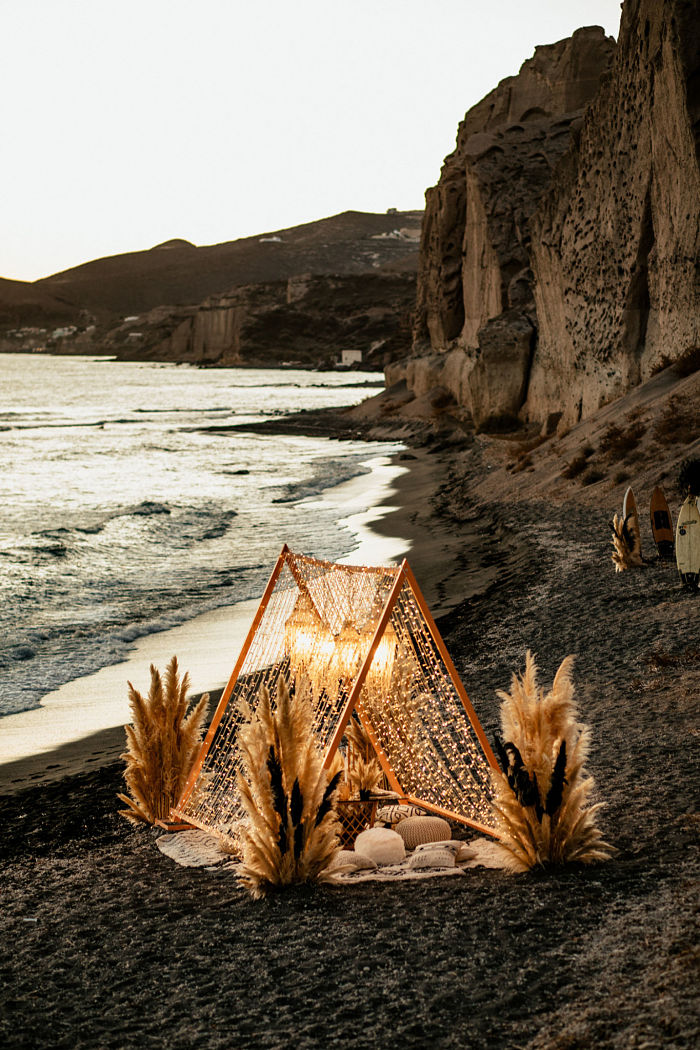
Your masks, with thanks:
M 495 741 L 503 772 L 492 774 L 492 805 L 506 866 L 515 872 L 591 864 L 613 852 L 595 823 L 601 803 L 590 804 L 594 781 L 584 769 L 590 731 L 576 720 L 572 665 L 568 656 L 545 694 L 528 652 L 524 675 L 513 675 L 510 693 L 499 693 L 505 742 Z

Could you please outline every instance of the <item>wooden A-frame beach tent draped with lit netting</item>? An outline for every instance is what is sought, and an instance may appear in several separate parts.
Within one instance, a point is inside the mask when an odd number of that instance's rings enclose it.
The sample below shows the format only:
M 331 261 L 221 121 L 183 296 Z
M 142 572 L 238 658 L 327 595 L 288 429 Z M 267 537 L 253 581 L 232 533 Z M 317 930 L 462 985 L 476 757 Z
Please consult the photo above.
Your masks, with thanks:
M 349 660 L 349 663 L 348 663 Z M 496 759 L 408 566 L 348 566 L 287 544 L 171 818 L 230 834 L 242 722 L 261 685 L 305 676 L 327 768 L 356 711 L 399 796 L 495 835 Z

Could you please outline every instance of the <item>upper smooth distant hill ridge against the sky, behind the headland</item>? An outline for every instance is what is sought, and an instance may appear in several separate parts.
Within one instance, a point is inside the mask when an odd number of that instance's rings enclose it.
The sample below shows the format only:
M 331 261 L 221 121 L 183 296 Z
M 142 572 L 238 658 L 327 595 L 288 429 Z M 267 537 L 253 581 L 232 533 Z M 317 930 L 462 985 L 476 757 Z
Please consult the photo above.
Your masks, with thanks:
M 220 245 L 167 240 L 148 251 L 84 262 L 28 287 L 45 297 L 42 301 L 60 299 L 109 321 L 303 273 L 357 274 L 384 267 L 415 272 L 422 215 L 346 211 Z M 2 295 L 0 288 L 0 308 Z

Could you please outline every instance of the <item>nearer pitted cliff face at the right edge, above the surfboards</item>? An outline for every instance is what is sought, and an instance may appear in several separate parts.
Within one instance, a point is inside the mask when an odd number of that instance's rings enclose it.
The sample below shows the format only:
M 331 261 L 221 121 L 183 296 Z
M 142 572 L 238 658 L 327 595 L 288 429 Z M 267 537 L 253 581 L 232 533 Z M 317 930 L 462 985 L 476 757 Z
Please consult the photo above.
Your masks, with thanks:
M 563 425 L 700 345 L 700 4 L 627 0 L 611 74 L 531 223 L 524 407 Z

